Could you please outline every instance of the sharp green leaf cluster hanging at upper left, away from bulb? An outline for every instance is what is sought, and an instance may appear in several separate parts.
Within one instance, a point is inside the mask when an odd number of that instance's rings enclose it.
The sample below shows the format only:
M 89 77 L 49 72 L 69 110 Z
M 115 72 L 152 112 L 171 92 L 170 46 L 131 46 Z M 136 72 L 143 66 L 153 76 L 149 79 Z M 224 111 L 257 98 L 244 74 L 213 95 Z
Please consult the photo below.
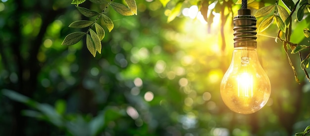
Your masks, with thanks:
M 79 20 L 72 22 L 69 27 L 70 28 L 76 28 L 76 29 L 82 29 L 82 28 L 88 28 L 87 32 L 74 32 L 71 34 L 68 34 L 63 42 L 62 45 L 73 45 L 79 42 L 85 35 L 86 35 L 86 45 L 87 49 L 90 51 L 90 53 L 96 57 L 96 52 L 101 53 L 102 50 L 102 44 L 101 40 L 103 40 L 105 36 L 105 31 L 103 29 L 103 26 L 100 25 L 100 23 L 97 23 L 97 21 L 101 20 L 105 25 L 106 29 L 111 32 L 114 28 L 114 24 L 112 20 L 104 14 L 104 11 L 108 7 L 112 7 L 116 12 L 123 16 L 131 16 L 131 15 L 137 15 L 137 5 L 135 0 L 125 0 L 126 5 L 123 5 L 121 3 L 113 2 L 113 0 L 105 1 L 105 0 L 90 0 L 93 3 L 99 4 L 99 5 L 106 5 L 102 12 L 93 11 L 91 9 L 87 9 L 84 7 L 78 6 L 79 4 L 85 2 L 86 0 L 73 0 L 71 3 L 76 4 L 76 8 L 78 11 L 86 16 L 86 17 L 94 17 L 97 16 L 97 18 L 94 21 L 89 20 Z M 95 26 L 95 31 L 92 29 Z

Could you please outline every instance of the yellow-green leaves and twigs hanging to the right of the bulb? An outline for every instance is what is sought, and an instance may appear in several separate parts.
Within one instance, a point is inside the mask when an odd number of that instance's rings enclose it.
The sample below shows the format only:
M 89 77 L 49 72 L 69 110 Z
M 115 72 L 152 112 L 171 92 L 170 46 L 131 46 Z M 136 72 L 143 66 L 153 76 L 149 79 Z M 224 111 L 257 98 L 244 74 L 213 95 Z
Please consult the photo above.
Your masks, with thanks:
M 297 10 L 297 20 L 302 21 L 305 13 L 305 9 L 308 3 L 308 0 L 298 0 L 294 3 L 293 0 L 281 0 L 285 7 L 279 5 L 279 1 L 277 0 L 275 4 L 268 5 L 258 9 L 254 16 L 256 17 L 264 17 L 264 19 L 260 22 L 258 26 L 258 33 L 266 30 L 273 21 L 275 21 L 279 33 L 277 35 L 277 39 L 280 39 L 283 42 L 283 48 L 287 54 L 289 59 L 289 63 L 294 71 L 296 82 L 299 83 L 299 79 L 297 78 L 297 72 L 290 60 L 288 55 L 288 47 L 292 50 L 292 54 L 299 53 L 300 60 L 301 60 L 301 68 L 304 70 L 306 77 L 310 81 L 309 74 L 306 68 L 309 67 L 309 59 L 310 59 L 310 52 L 305 59 L 302 59 L 300 52 L 304 49 L 308 49 L 309 45 L 298 45 L 296 43 L 290 42 L 290 36 L 292 32 L 292 15 Z M 300 6 L 298 9 L 298 5 Z M 307 8 L 309 10 L 309 8 Z M 309 37 L 310 33 L 308 29 L 304 29 L 304 35 Z M 288 47 L 287 47 L 288 46 Z

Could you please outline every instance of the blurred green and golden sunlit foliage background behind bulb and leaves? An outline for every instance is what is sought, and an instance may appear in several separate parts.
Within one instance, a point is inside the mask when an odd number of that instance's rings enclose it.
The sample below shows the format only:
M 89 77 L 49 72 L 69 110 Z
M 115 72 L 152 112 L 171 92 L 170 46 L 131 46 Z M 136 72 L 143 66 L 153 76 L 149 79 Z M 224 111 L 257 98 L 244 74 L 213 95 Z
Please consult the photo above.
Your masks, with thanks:
M 94 58 L 85 38 L 61 45 L 76 31 L 68 28 L 71 22 L 93 19 L 71 1 L 1 0 L 0 136 L 287 136 L 309 126 L 310 83 L 295 83 L 281 43 L 267 37 L 276 36 L 276 25 L 258 34 L 270 100 L 242 115 L 230 111 L 219 93 L 233 49 L 232 20 L 219 21 L 227 6 L 216 6 L 213 23 L 206 24 L 186 16 L 198 0 L 185 0 L 184 13 L 167 23 L 178 0 L 167 1 L 136 0 L 137 16 L 107 8 L 114 29 Z M 104 8 L 88 0 L 79 6 Z M 234 13 L 225 13 L 234 16 L 240 5 L 228 7 Z M 295 42 L 307 44 L 300 34 L 308 19 L 294 22 Z M 297 56 L 291 59 L 300 64 Z

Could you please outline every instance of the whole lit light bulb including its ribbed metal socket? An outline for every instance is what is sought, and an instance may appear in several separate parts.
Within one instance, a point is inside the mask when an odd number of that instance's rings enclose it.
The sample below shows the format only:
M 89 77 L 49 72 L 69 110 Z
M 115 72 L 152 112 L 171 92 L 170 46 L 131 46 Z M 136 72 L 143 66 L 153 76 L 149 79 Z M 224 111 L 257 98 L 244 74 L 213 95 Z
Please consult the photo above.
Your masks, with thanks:
M 270 81 L 258 61 L 256 19 L 249 9 L 241 9 L 234 19 L 235 42 L 231 64 L 220 85 L 223 102 L 237 113 L 251 114 L 261 109 L 270 96 Z

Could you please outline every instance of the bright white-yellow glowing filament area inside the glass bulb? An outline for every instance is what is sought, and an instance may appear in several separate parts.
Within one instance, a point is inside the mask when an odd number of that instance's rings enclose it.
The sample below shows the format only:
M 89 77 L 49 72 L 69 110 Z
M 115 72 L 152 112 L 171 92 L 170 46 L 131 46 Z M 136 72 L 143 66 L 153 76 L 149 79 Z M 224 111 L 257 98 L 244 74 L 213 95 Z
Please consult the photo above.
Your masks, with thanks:
M 238 82 L 238 97 L 252 98 L 253 97 L 253 75 L 247 72 L 237 76 Z

